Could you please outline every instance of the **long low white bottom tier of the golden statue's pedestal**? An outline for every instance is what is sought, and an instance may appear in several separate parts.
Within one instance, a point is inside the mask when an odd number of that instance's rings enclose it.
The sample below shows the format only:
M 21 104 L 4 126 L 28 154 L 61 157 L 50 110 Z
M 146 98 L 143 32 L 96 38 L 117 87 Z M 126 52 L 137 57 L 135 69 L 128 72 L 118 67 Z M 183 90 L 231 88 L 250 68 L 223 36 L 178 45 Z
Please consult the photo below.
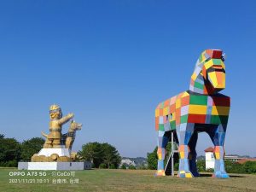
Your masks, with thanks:
M 18 170 L 85 170 L 90 169 L 90 161 L 85 162 L 19 162 Z

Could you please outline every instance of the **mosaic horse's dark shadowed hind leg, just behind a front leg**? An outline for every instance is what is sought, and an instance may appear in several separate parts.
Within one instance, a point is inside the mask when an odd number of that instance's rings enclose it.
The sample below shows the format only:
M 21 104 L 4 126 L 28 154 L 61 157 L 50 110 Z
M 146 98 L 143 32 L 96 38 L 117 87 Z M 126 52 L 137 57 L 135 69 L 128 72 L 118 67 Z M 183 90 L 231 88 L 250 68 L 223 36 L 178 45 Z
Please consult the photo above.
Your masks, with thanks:
M 190 172 L 192 172 L 194 177 L 199 177 L 199 172 L 197 171 L 197 166 L 196 166 L 196 143 L 197 143 L 197 138 L 198 138 L 198 133 L 197 131 L 195 131 L 193 133 L 193 135 L 190 138 L 189 141 L 189 168 L 190 168 Z

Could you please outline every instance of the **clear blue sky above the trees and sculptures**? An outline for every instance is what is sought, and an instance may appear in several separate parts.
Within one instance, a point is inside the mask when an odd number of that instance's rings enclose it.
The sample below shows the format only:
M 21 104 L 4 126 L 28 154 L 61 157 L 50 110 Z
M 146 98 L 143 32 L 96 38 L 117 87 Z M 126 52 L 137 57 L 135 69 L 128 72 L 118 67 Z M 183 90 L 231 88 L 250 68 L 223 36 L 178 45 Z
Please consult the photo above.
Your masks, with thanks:
M 202 50 L 223 49 L 226 153 L 256 156 L 255 20 L 255 1 L 0 1 L 0 132 L 40 137 L 58 103 L 84 124 L 74 150 L 146 156 L 156 105 L 189 89 Z M 209 146 L 201 133 L 198 154 Z

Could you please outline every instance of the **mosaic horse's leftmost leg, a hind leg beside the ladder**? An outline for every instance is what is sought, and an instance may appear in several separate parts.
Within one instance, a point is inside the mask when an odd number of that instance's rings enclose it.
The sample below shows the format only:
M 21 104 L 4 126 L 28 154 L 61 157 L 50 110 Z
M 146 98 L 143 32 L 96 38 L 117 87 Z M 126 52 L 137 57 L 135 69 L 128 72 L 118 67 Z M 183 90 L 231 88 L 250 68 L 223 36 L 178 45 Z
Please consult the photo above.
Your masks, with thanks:
M 165 173 L 165 157 L 166 157 L 166 145 L 169 141 L 169 137 L 165 136 L 165 131 L 158 131 L 158 149 L 157 149 L 157 172 L 155 176 L 166 176 Z

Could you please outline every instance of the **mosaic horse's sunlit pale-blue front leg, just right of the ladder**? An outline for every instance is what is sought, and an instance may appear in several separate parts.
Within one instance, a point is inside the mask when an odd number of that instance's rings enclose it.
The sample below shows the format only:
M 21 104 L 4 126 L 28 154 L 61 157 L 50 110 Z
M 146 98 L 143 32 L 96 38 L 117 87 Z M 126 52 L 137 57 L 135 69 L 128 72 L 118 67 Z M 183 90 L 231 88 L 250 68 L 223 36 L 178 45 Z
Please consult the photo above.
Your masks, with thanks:
M 189 170 L 189 140 L 194 132 L 194 124 L 181 124 L 177 126 L 179 140 L 179 168 L 177 177 L 193 177 Z

